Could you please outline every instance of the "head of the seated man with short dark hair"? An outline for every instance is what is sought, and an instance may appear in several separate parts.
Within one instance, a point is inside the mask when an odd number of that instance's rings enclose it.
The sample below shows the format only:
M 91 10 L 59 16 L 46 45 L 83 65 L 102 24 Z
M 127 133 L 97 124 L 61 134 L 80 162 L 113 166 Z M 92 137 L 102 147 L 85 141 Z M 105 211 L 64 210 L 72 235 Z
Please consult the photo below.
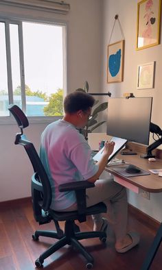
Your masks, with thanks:
M 95 99 L 82 91 L 75 91 L 64 100 L 65 120 L 73 123 L 76 127 L 84 127 L 89 116 Z

